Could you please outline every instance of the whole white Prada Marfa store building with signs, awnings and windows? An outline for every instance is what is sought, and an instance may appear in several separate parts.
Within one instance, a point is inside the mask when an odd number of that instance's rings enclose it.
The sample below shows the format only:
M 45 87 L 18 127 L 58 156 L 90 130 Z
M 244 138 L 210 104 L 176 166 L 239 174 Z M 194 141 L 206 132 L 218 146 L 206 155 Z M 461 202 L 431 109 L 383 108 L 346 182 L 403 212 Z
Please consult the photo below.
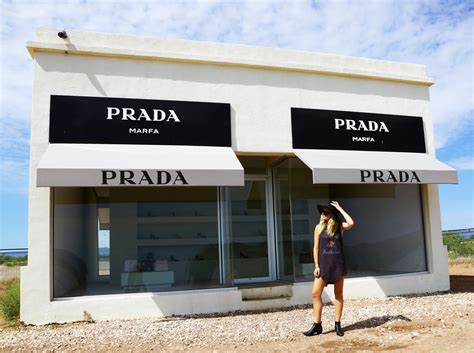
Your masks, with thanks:
M 420 65 L 40 28 L 21 320 L 311 302 L 318 204 L 345 298 L 449 289 Z M 333 300 L 332 286 L 323 299 Z

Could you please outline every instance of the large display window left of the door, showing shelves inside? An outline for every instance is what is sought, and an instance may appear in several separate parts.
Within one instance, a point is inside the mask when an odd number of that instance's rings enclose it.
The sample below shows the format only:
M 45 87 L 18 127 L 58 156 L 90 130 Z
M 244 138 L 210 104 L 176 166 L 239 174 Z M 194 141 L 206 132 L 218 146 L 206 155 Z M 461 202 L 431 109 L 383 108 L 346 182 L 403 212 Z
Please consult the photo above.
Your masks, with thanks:
M 54 296 L 219 286 L 215 187 L 55 188 Z

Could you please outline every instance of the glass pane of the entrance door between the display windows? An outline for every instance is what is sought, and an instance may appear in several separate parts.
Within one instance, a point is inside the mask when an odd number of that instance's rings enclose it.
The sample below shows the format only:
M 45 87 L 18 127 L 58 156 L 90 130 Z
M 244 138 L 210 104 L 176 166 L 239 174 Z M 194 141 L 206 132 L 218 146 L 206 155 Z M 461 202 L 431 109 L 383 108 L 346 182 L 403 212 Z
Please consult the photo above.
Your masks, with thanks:
M 246 181 L 243 187 L 229 189 L 233 277 L 268 277 L 265 181 Z

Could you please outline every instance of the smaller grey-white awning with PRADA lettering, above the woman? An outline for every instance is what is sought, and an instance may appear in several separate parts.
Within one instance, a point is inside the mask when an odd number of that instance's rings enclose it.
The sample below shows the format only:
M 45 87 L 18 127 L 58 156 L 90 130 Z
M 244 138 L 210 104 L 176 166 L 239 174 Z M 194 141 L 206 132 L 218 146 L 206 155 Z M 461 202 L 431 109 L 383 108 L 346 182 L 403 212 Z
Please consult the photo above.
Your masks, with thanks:
M 425 153 L 295 149 L 314 184 L 457 184 L 455 169 Z

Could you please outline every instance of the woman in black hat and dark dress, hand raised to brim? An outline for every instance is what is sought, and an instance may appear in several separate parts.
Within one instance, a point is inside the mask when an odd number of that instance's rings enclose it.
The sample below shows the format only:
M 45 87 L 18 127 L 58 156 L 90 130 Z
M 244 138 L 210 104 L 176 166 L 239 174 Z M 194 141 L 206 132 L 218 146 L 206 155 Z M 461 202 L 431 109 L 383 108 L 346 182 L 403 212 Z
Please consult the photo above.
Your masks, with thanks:
M 344 286 L 344 276 L 346 275 L 346 263 L 342 235 L 344 231 L 354 226 L 351 216 L 336 201 L 332 201 L 328 206 L 318 205 L 321 213 L 319 224 L 314 229 L 314 284 L 313 284 L 313 326 L 303 332 L 305 336 L 319 335 L 323 332 L 321 325 L 321 314 L 323 311 L 323 301 L 321 294 L 328 283 L 334 284 L 335 303 L 335 330 L 338 336 L 343 336 L 341 329 L 341 316 Z M 344 222 L 338 217 L 338 212 L 344 216 Z

